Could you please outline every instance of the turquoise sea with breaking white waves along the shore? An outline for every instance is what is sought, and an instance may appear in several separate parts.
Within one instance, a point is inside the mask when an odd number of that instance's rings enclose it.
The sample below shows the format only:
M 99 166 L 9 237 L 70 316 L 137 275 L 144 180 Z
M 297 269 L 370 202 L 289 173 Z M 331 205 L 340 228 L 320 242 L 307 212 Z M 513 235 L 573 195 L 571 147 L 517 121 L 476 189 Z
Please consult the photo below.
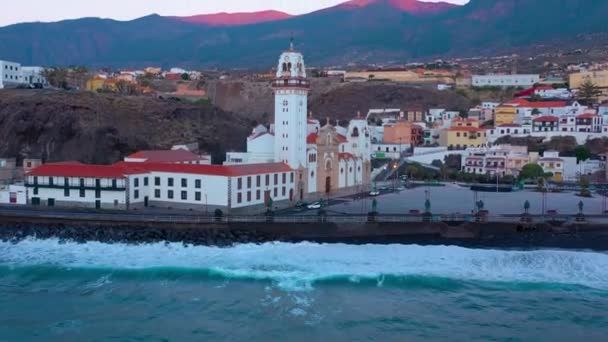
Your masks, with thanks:
M 0 341 L 606 341 L 608 255 L 0 243 Z

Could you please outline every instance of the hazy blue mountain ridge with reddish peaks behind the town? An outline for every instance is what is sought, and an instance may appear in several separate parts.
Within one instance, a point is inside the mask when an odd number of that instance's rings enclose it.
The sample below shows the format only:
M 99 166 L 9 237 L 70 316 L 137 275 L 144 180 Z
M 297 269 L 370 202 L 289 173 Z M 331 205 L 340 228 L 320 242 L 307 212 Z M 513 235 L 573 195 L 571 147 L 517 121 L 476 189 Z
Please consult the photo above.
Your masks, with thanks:
M 292 36 L 309 65 L 323 66 L 495 55 L 608 32 L 604 0 L 471 0 L 425 15 L 396 11 L 391 1 L 232 27 L 158 15 L 13 25 L 0 28 L 0 58 L 51 66 L 267 69 Z

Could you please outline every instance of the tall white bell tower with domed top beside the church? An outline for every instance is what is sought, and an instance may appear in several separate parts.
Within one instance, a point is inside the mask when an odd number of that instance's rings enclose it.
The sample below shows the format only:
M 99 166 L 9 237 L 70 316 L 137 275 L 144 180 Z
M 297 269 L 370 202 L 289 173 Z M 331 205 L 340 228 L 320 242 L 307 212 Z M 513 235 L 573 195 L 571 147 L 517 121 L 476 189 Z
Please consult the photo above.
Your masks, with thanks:
M 274 89 L 274 159 L 294 169 L 306 168 L 308 89 L 304 57 L 294 49 L 279 58 Z

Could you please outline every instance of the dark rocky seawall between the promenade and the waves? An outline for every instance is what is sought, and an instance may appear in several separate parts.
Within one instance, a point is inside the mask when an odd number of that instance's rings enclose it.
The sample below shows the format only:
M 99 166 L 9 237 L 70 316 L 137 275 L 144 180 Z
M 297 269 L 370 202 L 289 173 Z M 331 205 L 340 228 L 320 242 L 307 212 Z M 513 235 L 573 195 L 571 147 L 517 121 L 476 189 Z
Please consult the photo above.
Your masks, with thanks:
M 474 248 L 560 248 L 608 251 L 608 227 L 599 224 L 445 222 L 119 222 L 116 220 L 0 215 L 0 239 L 59 238 L 77 242 L 458 245 Z

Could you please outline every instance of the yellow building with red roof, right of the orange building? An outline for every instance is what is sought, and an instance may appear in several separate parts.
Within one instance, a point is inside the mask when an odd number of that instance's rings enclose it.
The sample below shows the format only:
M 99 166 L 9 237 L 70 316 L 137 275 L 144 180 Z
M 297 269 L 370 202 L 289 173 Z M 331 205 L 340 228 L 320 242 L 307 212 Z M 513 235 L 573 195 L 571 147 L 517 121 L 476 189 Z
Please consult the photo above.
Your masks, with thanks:
M 455 119 L 450 128 L 441 132 L 439 143 L 452 149 L 482 147 L 487 144 L 487 133 L 479 127 L 479 120 Z

